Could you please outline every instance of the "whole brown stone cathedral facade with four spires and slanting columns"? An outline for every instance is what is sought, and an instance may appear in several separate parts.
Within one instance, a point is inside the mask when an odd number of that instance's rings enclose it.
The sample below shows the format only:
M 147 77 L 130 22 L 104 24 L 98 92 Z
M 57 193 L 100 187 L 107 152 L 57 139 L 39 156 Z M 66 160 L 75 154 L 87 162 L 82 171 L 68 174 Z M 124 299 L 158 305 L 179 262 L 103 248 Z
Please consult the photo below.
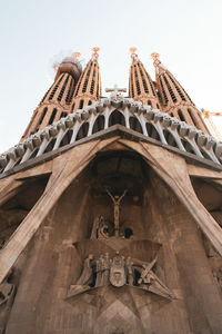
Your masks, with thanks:
M 152 53 L 64 58 L 0 156 L 0 333 L 220 334 L 222 143 Z

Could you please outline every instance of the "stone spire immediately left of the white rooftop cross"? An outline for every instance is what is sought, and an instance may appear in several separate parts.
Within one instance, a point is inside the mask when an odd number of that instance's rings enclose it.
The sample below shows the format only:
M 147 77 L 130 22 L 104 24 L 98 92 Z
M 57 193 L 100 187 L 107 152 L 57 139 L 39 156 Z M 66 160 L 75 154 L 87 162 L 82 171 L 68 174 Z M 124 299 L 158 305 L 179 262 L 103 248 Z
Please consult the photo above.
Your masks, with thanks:
M 74 91 L 72 111 L 98 101 L 101 98 L 101 78 L 98 63 L 100 48 L 93 48 L 92 57 L 83 70 Z

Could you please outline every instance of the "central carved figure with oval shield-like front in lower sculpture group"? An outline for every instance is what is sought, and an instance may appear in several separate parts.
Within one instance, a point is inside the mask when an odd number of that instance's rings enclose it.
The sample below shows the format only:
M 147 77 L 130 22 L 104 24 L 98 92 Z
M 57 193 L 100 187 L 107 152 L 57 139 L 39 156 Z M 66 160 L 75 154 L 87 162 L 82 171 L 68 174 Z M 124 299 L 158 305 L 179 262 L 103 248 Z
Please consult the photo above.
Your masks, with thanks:
M 124 256 L 119 255 L 117 252 L 117 256 L 112 259 L 112 265 L 110 268 L 110 283 L 114 286 L 123 286 L 127 283 L 125 275 L 125 261 Z

